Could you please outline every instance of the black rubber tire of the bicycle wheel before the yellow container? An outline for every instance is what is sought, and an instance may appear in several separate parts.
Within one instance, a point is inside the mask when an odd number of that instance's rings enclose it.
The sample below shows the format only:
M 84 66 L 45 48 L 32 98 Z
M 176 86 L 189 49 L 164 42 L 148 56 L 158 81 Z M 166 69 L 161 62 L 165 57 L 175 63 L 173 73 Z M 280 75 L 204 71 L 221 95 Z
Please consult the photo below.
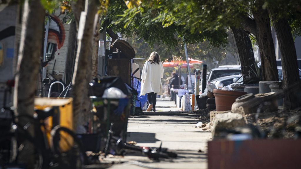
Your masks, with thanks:
M 65 154 L 67 153 L 68 155 L 74 155 L 73 152 L 70 152 L 70 150 L 68 150 L 68 152 L 61 152 L 60 151 L 60 147 L 59 147 L 59 141 L 60 141 L 60 131 L 66 132 L 67 134 L 69 134 L 72 138 L 73 138 L 73 142 L 76 143 L 76 146 L 72 146 L 72 150 L 73 149 L 77 149 L 78 153 L 76 154 L 76 158 L 78 158 L 81 162 L 80 165 L 74 166 L 75 164 L 71 161 L 69 161 L 70 163 L 66 163 L 66 160 L 64 160 L 62 157 L 67 157 Z M 51 130 L 51 136 L 50 136 L 50 148 L 52 150 L 52 152 L 54 152 L 56 155 L 59 155 L 59 160 L 62 160 L 60 162 L 60 165 L 64 165 L 62 167 L 67 168 L 67 169 L 82 169 L 84 168 L 84 165 L 87 164 L 87 156 L 86 153 L 83 149 L 83 145 L 81 140 L 79 140 L 78 137 L 76 137 L 76 134 L 71 131 L 68 128 L 64 128 L 61 127 L 60 125 L 55 126 L 52 130 Z M 69 153 L 70 152 L 70 153 Z M 68 157 L 67 157 L 68 158 Z M 70 158 L 71 160 L 73 160 L 73 156 Z M 76 161 L 77 163 L 78 161 Z M 64 163 L 64 164 L 63 164 Z M 67 165 L 67 166 L 66 166 Z

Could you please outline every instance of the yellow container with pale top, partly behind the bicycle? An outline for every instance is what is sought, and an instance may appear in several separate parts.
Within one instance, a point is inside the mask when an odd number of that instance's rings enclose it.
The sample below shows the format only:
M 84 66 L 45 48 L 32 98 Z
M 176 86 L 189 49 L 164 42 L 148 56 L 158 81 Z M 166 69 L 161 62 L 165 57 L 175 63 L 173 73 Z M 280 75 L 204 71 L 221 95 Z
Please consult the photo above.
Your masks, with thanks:
M 57 125 L 73 130 L 73 110 L 72 110 L 73 98 L 46 98 L 46 97 L 36 97 L 35 98 L 35 108 L 38 110 L 43 110 L 46 107 L 52 107 L 54 109 L 54 115 L 45 119 L 46 133 L 48 137 L 48 143 L 50 143 L 50 131 Z M 62 133 L 60 137 L 64 137 L 69 140 L 69 144 L 73 144 L 73 139 L 70 135 Z M 61 150 L 68 150 L 68 146 L 64 139 L 60 141 Z

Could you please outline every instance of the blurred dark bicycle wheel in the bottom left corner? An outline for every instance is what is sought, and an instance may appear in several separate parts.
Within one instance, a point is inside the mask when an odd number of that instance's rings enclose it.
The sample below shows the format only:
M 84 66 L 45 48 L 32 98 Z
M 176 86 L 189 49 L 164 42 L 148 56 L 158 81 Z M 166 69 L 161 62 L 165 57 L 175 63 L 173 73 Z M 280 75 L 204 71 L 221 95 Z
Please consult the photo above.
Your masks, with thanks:
M 43 151 L 32 137 L 17 131 L 17 133 L 2 135 L 0 138 L 2 168 L 18 166 L 41 169 L 43 167 Z

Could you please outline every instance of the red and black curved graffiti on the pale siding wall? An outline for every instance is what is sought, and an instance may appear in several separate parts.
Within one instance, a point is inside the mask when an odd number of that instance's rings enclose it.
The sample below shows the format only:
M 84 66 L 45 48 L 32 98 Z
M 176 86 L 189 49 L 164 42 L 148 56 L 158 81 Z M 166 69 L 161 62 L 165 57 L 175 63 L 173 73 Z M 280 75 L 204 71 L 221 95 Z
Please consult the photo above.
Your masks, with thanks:
M 51 22 L 54 22 L 56 24 L 51 24 Z M 52 16 L 50 20 L 50 25 L 55 25 L 55 26 L 49 27 L 48 39 L 54 39 L 57 42 L 57 48 L 60 49 L 64 45 L 64 41 L 65 41 L 64 25 L 60 19 Z

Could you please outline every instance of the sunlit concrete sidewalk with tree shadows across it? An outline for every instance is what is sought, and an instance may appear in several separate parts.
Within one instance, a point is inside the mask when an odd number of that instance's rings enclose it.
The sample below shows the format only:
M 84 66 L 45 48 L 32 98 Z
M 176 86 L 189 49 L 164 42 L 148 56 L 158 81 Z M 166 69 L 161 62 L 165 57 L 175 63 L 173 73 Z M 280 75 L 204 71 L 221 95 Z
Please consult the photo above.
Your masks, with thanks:
M 144 156 L 126 155 L 123 158 L 105 158 L 105 161 L 115 163 L 112 169 L 145 167 L 186 169 L 207 168 L 207 141 L 211 133 L 200 128 L 194 128 L 197 124 L 197 116 L 193 113 L 179 112 L 174 102 L 167 99 L 157 100 L 157 112 L 145 112 L 143 116 L 133 116 L 128 122 L 127 141 L 136 141 L 138 146 L 168 148 L 178 153 L 178 158 L 172 160 L 152 161 Z M 131 161 L 131 162 L 128 162 Z M 133 164 L 133 161 L 142 162 L 144 167 Z

